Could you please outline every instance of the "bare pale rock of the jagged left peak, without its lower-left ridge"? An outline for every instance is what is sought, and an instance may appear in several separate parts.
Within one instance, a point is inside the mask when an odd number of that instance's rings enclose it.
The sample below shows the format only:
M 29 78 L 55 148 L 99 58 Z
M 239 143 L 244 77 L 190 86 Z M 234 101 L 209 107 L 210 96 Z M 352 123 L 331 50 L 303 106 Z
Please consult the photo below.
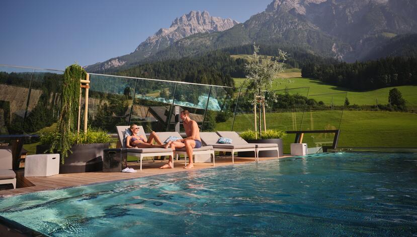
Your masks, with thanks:
M 232 28 L 238 22 L 231 19 L 211 17 L 208 12 L 192 11 L 177 18 L 171 27 L 162 28 L 155 35 L 142 42 L 135 51 L 144 51 L 145 57 L 161 49 L 170 46 L 172 43 L 196 33 L 220 32 Z

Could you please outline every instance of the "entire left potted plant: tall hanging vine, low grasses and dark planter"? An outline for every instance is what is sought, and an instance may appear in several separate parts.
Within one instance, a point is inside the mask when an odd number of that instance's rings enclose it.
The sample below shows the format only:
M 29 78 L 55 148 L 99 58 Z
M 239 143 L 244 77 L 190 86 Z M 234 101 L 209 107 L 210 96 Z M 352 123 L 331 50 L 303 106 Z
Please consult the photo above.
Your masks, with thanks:
M 89 88 L 88 85 L 81 86 L 81 81 L 88 83 L 87 79 L 86 71 L 77 64 L 65 69 L 60 88 L 61 101 L 56 130 L 42 135 L 44 146 L 39 147 L 39 150 L 37 147 L 38 154 L 60 154 L 60 173 L 96 171 L 103 168 L 103 149 L 109 147 L 110 137 L 104 131 L 88 131 L 87 127 L 84 132 L 79 132 L 80 88 L 86 88 L 86 101 Z

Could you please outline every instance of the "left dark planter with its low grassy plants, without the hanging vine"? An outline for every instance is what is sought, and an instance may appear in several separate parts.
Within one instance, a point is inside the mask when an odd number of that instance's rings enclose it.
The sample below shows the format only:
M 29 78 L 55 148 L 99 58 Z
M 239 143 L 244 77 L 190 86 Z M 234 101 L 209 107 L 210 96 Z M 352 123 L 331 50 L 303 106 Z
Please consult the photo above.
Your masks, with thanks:
M 70 132 L 67 134 L 70 144 L 68 156 L 61 159 L 59 173 L 82 173 L 103 169 L 103 150 L 109 148 L 110 135 L 101 129 L 88 129 L 86 133 Z M 36 146 L 36 153 L 59 153 L 51 151 L 54 141 L 60 140 L 61 134 L 49 132 L 40 134 L 41 145 Z

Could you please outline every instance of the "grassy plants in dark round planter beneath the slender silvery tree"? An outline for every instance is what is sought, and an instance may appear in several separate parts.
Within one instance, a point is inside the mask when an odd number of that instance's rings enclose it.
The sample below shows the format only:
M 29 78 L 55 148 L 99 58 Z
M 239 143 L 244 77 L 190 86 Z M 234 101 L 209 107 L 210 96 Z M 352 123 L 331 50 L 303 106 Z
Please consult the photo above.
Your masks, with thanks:
M 246 140 L 248 143 L 275 143 L 278 144 L 279 148 L 279 156 L 283 156 L 284 150 L 282 145 L 282 138 L 287 136 L 287 133 L 282 130 L 275 130 L 275 129 L 267 129 L 266 131 L 262 132 L 262 139 L 257 139 L 257 133 L 253 130 L 247 130 L 241 132 L 240 137 Z M 241 157 L 253 157 L 253 152 L 239 152 L 238 156 Z M 260 157 L 276 157 L 276 151 L 260 151 Z

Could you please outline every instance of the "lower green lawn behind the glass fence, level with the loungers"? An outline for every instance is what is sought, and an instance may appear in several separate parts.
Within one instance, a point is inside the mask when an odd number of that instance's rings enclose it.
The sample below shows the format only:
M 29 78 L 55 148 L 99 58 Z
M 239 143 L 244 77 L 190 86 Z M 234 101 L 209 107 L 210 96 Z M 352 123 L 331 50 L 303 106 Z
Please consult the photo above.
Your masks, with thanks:
M 236 116 L 233 130 L 253 129 L 253 114 Z M 341 119 L 342 118 L 342 119 Z M 416 147 L 417 114 L 384 111 L 318 111 L 297 113 L 269 113 L 267 128 L 281 130 L 333 130 L 341 129 L 340 147 Z M 231 120 L 218 123 L 217 131 L 230 130 Z M 288 148 L 295 135 L 284 139 Z M 333 135 L 305 134 L 309 147 L 330 145 Z M 316 144 L 317 143 L 317 144 Z M 288 152 L 288 150 L 285 150 Z

